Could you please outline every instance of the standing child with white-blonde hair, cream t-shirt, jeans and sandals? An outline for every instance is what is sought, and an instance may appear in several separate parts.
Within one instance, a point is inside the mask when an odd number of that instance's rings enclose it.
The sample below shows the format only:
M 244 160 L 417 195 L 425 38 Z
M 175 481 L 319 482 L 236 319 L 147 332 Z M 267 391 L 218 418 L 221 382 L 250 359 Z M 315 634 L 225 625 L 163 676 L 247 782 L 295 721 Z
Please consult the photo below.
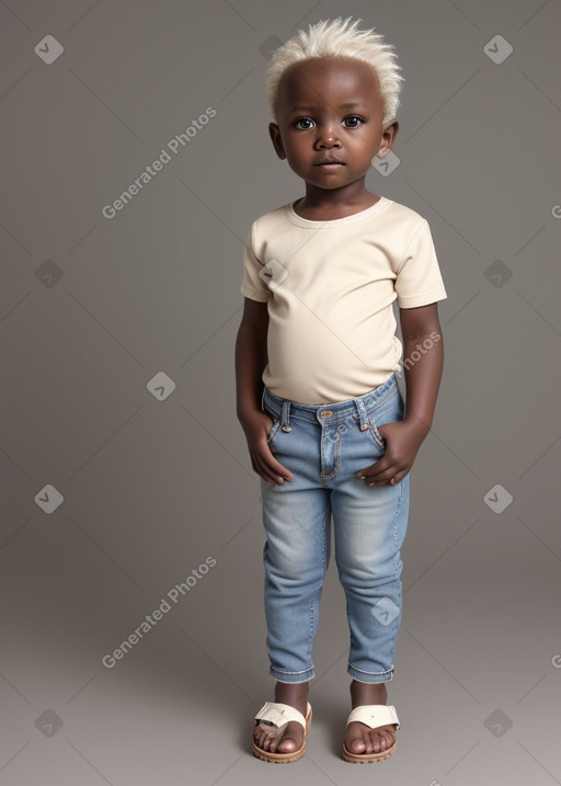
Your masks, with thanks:
M 261 477 L 277 681 L 252 750 L 267 762 L 306 750 L 331 516 L 351 633 L 343 757 L 387 759 L 399 729 L 385 683 L 401 619 L 409 471 L 433 420 L 446 292 L 426 220 L 365 187 L 374 157 L 396 140 L 402 77 L 393 47 L 359 22 L 310 25 L 271 60 L 271 138 L 306 194 L 256 220 L 244 253 L 237 410 Z

